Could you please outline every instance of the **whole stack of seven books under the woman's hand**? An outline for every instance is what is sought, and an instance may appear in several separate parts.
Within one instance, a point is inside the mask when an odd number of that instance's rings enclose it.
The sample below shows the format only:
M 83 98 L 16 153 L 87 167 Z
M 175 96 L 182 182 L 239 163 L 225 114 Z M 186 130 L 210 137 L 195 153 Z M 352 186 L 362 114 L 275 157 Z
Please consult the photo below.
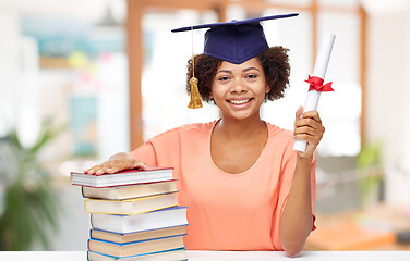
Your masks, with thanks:
M 178 206 L 171 167 L 99 176 L 72 172 L 91 214 L 91 261 L 186 260 L 186 208 Z

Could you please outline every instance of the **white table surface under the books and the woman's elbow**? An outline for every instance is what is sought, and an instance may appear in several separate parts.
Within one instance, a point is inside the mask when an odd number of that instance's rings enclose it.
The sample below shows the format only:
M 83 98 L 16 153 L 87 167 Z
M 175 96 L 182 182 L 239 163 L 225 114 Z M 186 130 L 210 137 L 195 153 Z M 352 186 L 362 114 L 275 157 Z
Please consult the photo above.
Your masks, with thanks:
M 0 251 L 0 261 L 84 261 L 86 256 L 85 251 Z M 303 251 L 292 259 L 281 251 L 186 251 L 186 257 L 190 261 L 409 261 L 410 251 Z

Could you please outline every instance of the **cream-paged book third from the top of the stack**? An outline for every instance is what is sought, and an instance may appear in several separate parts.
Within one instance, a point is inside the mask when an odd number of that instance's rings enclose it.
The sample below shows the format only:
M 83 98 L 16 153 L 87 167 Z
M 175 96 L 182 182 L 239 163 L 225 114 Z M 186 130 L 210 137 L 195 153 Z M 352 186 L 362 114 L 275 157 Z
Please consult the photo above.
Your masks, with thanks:
M 87 213 L 141 214 L 178 206 L 178 201 L 177 192 L 171 192 L 124 200 L 86 199 L 84 206 Z

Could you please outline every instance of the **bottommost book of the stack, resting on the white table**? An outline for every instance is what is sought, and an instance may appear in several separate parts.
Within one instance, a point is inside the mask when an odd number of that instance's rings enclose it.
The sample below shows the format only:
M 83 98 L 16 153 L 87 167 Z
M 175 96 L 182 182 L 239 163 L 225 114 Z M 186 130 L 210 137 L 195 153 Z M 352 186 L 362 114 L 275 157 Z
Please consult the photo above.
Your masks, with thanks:
M 87 252 L 88 261 L 184 261 L 188 260 L 185 256 L 184 248 L 177 248 L 165 251 L 157 251 L 153 253 L 143 253 L 129 257 L 116 257 L 109 256 L 106 253 L 88 251 Z

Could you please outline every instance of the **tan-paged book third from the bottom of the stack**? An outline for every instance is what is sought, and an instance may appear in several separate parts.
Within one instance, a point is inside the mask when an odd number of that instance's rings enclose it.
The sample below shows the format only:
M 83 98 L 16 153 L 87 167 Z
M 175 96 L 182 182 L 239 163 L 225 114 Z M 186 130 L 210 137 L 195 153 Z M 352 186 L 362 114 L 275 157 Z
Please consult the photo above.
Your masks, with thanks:
M 145 239 L 153 239 L 159 237 L 178 236 L 186 234 L 186 225 L 164 227 L 159 229 L 149 229 L 137 233 L 114 233 L 100 229 L 91 229 L 89 237 L 93 239 L 100 239 L 113 243 L 131 243 Z

